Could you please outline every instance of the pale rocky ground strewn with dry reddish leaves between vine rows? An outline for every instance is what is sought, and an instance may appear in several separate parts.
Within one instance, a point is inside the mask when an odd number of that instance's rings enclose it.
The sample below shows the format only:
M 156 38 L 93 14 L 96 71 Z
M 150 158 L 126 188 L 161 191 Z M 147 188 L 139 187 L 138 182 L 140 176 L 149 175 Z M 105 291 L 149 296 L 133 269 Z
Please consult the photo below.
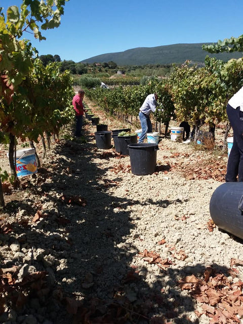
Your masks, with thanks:
M 209 211 L 227 152 L 162 138 L 156 172 L 137 176 L 84 129 L 5 194 L 0 323 L 243 323 L 242 241 Z

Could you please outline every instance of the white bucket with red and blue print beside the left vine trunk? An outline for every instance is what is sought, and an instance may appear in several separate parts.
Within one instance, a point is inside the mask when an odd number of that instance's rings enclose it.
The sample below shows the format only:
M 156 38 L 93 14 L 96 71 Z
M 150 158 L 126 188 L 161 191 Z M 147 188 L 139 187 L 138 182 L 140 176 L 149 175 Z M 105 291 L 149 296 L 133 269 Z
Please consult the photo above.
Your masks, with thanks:
M 16 173 L 18 177 L 29 176 L 37 172 L 34 148 L 16 151 Z

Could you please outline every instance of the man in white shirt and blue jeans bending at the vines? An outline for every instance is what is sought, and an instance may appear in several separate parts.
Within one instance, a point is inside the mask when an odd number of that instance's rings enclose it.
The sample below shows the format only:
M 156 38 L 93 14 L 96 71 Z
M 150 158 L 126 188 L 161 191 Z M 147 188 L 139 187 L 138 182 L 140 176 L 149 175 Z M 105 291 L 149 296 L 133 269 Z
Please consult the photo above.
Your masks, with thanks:
M 155 111 L 158 105 L 157 99 L 158 95 L 156 93 L 148 95 L 140 108 L 138 116 L 141 123 L 142 133 L 138 140 L 139 143 L 143 143 L 146 134 L 152 132 L 152 124 L 149 115 L 151 112 Z

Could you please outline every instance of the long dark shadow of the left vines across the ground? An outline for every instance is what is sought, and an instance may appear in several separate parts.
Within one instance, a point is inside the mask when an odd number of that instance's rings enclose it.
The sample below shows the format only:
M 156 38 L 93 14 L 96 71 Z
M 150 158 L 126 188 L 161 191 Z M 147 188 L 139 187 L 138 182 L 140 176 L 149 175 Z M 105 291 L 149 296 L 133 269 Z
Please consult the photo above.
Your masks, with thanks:
M 190 273 L 183 268 L 161 268 L 151 273 L 148 282 L 146 267 L 131 266 L 141 251 L 126 244 L 135 226 L 128 207 L 156 204 L 167 208 L 181 201 L 148 199 L 141 204 L 110 195 L 107 185 L 114 182 L 100 182 L 107 169 L 94 162 L 93 136 L 87 134 L 86 139 L 83 144 L 61 140 L 49 157 L 50 170 L 44 168 L 29 181 L 25 189 L 29 197 L 6 206 L 16 218 L 20 213 L 28 217 L 38 210 L 42 213 L 36 222 L 24 222 L 23 217 L 22 222 L 12 224 L 15 234 L 5 234 L 6 245 L 17 240 L 25 254 L 9 260 L 5 267 L 17 265 L 27 273 L 33 267 L 47 273 L 38 286 L 22 290 L 28 297 L 17 307 L 18 315 L 37 314 L 40 322 L 47 318 L 58 324 L 199 323 L 196 316 L 188 315 L 196 309 L 195 300 L 178 288 L 178 282 L 185 273 L 203 276 L 205 266 L 191 267 Z M 214 267 L 219 273 L 228 271 Z M 9 307 L 14 303 L 9 301 Z

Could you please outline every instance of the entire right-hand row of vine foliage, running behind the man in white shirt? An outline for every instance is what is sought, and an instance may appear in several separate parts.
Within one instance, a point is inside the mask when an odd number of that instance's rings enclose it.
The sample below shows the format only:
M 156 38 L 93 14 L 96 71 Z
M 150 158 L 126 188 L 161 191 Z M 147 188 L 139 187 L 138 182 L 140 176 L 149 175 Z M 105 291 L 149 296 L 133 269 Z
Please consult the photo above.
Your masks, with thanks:
M 205 66 L 186 62 L 173 66 L 170 77 L 149 78 L 145 85 L 95 89 L 86 95 L 110 114 L 137 116 L 144 99 L 157 92 L 155 118 L 169 124 L 171 118 L 186 120 L 197 129 L 207 123 L 227 121 L 226 104 L 243 86 L 243 58 L 223 62 L 206 57 Z

